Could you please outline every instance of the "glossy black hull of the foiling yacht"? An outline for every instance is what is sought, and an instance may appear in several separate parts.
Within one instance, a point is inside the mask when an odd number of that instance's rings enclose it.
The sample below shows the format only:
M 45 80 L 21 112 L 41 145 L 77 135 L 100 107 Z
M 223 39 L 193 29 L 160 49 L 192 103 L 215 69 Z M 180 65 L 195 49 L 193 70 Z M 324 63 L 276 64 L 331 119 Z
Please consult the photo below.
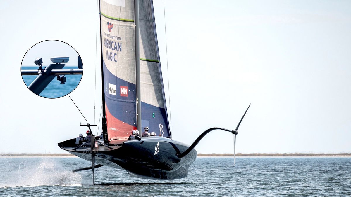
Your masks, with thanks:
M 80 158 L 91 161 L 90 143 L 73 150 L 75 139 L 58 143 L 59 147 Z M 159 151 L 155 154 L 155 147 Z M 184 152 L 188 145 L 165 137 L 145 137 L 139 140 L 125 141 L 122 144 L 110 145 L 113 149 L 100 145 L 93 151 L 95 164 L 125 169 L 132 177 L 173 180 L 184 178 L 188 174 L 190 164 L 196 159 L 197 152 L 191 150 L 183 158 L 176 156 L 176 146 Z

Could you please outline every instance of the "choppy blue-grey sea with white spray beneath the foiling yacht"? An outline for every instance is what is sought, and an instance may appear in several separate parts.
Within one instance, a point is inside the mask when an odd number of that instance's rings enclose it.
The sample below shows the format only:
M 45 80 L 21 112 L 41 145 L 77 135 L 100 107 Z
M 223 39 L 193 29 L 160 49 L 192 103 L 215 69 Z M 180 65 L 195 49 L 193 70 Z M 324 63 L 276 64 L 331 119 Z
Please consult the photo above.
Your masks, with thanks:
M 78 157 L 0 157 L 0 196 L 351 196 L 350 157 L 198 157 L 188 176 L 132 178 Z

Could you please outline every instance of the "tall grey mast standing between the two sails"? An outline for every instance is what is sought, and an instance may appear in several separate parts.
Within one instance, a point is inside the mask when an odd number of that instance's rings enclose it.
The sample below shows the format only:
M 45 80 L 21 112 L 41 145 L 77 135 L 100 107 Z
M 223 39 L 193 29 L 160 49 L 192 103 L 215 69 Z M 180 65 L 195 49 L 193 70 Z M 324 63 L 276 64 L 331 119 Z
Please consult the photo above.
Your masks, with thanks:
M 141 132 L 141 90 L 140 90 L 140 46 L 139 46 L 139 0 L 134 0 L 135 23 L 135 74 L 137 97 L 137 129 Z

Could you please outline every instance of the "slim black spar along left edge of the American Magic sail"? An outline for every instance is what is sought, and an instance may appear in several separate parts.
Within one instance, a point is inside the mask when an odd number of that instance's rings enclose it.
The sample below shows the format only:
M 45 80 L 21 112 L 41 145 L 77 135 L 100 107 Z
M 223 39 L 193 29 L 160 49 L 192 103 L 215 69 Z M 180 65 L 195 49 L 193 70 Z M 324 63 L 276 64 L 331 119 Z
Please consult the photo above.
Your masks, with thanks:
M 104 86 L 104 60 L 102 59 L 102 34 L 101 34 L 101 4 L 99 0 L 99 18 L 100 18 L 100 54 L 101 54 L 101 85 L 102 85 L 102 134 L 104 142 L 108 143 L 107 125 L 106 125 L 106 110 L 105 110 L 105 86 Z

